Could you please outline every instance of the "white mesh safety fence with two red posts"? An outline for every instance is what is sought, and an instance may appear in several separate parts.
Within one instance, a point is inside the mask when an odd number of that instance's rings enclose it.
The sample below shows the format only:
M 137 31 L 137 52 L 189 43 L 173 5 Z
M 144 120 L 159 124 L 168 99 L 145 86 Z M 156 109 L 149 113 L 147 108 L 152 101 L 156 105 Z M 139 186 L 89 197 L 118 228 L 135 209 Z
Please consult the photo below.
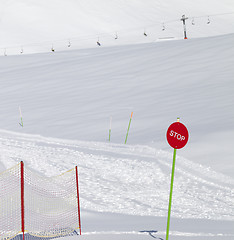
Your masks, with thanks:
M 81 234 L 77 167 L 40 176 L 24 163 L 0 173 L 0 240 Z

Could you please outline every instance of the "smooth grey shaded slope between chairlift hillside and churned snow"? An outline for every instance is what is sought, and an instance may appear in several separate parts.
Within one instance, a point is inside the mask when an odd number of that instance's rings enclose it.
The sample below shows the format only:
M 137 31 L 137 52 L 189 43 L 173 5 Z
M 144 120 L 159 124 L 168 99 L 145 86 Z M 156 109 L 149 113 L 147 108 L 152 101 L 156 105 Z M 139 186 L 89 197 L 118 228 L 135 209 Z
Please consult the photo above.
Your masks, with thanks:
M 168 150 L 177 116 L 183 155 L 233 176 L 234 35 L 0 58 L 1 128 Z M 18 122 L 21 106 L 24 128 Z

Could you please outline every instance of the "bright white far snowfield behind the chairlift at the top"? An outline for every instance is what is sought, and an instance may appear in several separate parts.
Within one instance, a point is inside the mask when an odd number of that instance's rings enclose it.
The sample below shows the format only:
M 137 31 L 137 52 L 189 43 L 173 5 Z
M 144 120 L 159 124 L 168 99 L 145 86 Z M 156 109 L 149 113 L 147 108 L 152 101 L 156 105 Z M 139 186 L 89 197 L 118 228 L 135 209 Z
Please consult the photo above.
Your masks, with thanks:
M 95 47 L 98 40 L 119 46 L 181 39 L 183 14 L 189 17 L 189 38 L 234 31 L 232 0 L 1 0 L 0 49 L 2 54 L 5 49 L 19 54 L 21 48 L 24 53 L 48 52 L 52 45 L 62 50 L 69 39 L 73 49 Z

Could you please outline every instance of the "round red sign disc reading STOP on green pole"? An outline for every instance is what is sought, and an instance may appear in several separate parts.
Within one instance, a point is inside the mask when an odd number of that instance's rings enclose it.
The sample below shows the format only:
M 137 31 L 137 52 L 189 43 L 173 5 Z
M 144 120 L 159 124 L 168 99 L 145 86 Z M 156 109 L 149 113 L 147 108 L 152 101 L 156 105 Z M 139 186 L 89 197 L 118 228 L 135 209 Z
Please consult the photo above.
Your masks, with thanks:
M 189 133 L 184 124 L 172 123 L 167 130 L 167 141 L 175 149 L 183 148 L 188 142 Z

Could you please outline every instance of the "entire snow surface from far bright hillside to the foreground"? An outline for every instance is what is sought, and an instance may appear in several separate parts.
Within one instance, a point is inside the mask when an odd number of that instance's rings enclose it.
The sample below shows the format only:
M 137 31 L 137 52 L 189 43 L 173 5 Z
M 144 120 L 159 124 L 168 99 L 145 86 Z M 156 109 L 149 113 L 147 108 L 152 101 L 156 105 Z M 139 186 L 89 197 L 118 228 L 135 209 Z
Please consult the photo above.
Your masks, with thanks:
M 0 7 L 0 46 L 9 46 L 0 57 L 1 171 L 21 160 L 45 176 L 78 165 L 80 239 L 165 239 L 173 154 L 165 133 L 180 117 L 190 139 L 177 151 L 170 239 L 234 239 L 234 15 L 215 15 L 234 11 L 232 1 Z M 188 26 L 192 39 L 182 40 L 180 21 L 161 30 L 184 13 L 204 16 Z M 146 38 L 155 22 L 158 34 Z M 115 41 L 117 30 L 125 37 Z M 69 49 L 59 40 L 79 35 Z M 98 36 L 108 47 L 92 45 Z M 158 41 L 171 36 L 178 40 Z M 48 52 L 52 40 L 62 44 Z

